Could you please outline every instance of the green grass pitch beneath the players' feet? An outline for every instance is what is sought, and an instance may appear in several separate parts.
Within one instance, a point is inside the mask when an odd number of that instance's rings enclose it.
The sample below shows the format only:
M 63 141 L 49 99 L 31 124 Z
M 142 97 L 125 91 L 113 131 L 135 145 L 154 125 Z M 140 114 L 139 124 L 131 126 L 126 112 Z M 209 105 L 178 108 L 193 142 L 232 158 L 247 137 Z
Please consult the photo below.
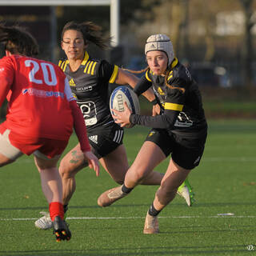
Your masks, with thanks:
M 97 206 L 98 195 L 116 184 L 101 169 L 77 175 L 67 222 L 70 242 L 55 242 L 52 230 L 37 230 L 47 210 L 33 158 L 22 157 L 0 171 L 0 255 L 253 255 L 256 251 L 256 121 L 212 121 L 202 162 L 190 174 L 196 202 L 180 198 L 159 215 L 160 233 L 142 234 L 157 186 L 138 186 L 113 206 Z M 133 162 L 148 129 L 126 129 Z M 73 136 L 69 149 L 76 143 Z M 158 166 L 165 171 L 168 161 Z M 224 214 L 224 215 L 223 215 Z M 225 215 L 234 214 L 234 215 Z

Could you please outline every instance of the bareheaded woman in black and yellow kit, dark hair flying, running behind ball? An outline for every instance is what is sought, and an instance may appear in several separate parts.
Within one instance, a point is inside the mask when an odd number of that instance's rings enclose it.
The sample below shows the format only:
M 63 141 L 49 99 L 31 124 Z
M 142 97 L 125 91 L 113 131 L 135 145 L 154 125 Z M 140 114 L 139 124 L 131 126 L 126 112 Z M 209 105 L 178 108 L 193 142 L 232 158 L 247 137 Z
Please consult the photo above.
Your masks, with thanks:
M 128 170 L 125 146 L 122 144 L 123 128 L 114 122 L 110 114 L 108 98 L 109 83 L 134 87 L 138 78 L 118 66 L 95 60 L 86 51 L 89 43 L 106 49 L 108 39 L 103 39 L 100 27 L 92 22 L 68 22 L 62 30 L 62 50 L 66 60 L 58 64 L 70 82 L 70 88 L 77 100 L 86 122 L 87 135 L 94 154 L 103 168 L 118 184 L 122 184 Z M 154 92 L 144 94 L 151 102 Z M 70 150 L 60 163 L 62 176 L 63 204 L 65 211 L 75 190 L 75 175 L 88 164 L 82 158 L 79 144 Z M 152 172 L 142 184 L 159 185 L 163 174 Z M 39 218 L 35 226 L 46 230 L 51 227 L 49 215 Z

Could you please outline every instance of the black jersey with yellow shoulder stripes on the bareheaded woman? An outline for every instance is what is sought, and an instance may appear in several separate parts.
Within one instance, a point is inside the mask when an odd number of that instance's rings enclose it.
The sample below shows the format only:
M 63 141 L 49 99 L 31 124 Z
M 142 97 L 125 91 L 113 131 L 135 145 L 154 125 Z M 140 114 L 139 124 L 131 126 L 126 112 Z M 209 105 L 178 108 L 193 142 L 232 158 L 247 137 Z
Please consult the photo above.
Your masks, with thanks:
M 105 60 L 97 61 L 86 52 L 78 70 L 70 71 L 68 60 L 61 60 L 62 68 L 70 82 L 74 98 L 82 111 L 87 130 L 114 122 L 107 102 L 108 84 L 113 83 L 118 74 L 118 66 Z

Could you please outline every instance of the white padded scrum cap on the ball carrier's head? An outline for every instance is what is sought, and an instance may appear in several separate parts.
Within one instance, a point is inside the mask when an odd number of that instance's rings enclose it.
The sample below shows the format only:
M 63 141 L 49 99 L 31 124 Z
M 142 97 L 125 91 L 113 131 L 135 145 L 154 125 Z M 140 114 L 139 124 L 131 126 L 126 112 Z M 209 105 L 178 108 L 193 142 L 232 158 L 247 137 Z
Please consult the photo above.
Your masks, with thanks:
M 168 57 L 168 66 L 174 60 L 173 44 L 166 34 L 152 34 L 146 40 L 145 54 L 151 50 L 162 50 Z

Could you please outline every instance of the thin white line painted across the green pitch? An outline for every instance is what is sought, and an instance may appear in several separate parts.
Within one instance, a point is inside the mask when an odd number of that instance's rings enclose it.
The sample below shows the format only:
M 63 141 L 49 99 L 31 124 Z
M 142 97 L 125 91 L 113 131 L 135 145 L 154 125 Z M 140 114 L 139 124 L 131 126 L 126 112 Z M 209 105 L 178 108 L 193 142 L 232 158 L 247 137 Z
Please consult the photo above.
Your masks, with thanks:
M 66 219 L 136 219 L 144 217 L 68 217 Z M 256 218 L 256 216 L 214 215 L 214 216 L 159 216 L 158 218 Z M 0 222 L 34 221 L 38 218 L 0 218 Z

